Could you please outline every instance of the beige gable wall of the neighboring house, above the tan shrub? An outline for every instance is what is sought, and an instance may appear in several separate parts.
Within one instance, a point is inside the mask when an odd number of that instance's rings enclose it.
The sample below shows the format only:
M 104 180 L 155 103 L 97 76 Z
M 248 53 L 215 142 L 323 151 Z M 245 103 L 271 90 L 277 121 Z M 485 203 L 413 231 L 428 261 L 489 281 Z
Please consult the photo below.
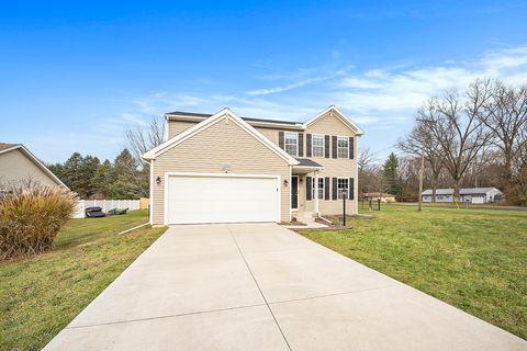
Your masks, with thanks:
M 0 188 L 1 184 L 20 183 L 26 180 L 42 185 L 61 185 L 27 158 L 20 149 L 0 154 Z

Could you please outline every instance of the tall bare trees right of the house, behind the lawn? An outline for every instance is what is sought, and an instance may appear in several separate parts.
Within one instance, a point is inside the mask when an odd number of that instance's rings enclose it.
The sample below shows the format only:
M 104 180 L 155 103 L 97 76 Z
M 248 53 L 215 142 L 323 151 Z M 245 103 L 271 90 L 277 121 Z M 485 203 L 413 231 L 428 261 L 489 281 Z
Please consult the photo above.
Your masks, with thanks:
M 475 80 L 464 91 L 449 90 L 417 110 L 412 131 L 399 140 L 401 151 L 378 165 L 369 149 L 358 159 L 359 186 L 400 201 L 416 201 L 421 157 L 424 184 L 451 188 L 495 186 L 511 204 L 527 205 L 527 86 Z

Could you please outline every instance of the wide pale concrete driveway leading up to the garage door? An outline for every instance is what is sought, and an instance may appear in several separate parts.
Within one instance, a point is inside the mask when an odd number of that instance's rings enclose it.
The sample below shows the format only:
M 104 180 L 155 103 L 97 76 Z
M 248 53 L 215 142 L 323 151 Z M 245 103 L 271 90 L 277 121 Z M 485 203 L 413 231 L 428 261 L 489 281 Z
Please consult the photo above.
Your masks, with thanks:
M 173 226 L 45 350 L 527 350 L 274 224 Z

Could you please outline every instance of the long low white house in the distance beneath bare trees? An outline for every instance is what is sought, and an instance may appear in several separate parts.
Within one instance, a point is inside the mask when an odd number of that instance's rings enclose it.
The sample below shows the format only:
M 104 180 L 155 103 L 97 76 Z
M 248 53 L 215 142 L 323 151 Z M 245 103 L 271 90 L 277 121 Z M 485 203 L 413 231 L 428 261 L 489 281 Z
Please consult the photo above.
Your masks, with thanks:
M 460 201 L 471 204 L 486 204 L 503 200 L 503 193 L 496 188 L 463 188 L 459 191 Z M 431 202 L 431 189 L 421 193 L 423 202 Z M 436 202 L 452 202 L 453 189 L 436 189 Z

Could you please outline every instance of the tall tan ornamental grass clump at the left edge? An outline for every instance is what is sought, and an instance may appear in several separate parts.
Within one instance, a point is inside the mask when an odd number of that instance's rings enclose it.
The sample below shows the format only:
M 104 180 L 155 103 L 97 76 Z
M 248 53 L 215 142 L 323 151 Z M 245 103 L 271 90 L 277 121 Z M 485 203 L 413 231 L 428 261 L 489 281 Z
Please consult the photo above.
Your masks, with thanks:
M 77 195 L 59 186 L 13 189 L 0 200 L 0 259 L 52 249 L 76 204 Z

